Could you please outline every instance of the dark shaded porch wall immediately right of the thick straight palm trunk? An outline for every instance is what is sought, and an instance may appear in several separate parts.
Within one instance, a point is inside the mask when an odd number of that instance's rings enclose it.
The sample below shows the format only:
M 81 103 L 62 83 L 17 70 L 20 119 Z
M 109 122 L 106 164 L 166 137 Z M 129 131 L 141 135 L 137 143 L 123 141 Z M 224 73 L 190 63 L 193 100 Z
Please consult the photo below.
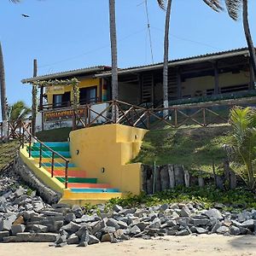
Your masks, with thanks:
M 119 100 L 138 105 L 141 101 L 139 84 L 119 83 Z

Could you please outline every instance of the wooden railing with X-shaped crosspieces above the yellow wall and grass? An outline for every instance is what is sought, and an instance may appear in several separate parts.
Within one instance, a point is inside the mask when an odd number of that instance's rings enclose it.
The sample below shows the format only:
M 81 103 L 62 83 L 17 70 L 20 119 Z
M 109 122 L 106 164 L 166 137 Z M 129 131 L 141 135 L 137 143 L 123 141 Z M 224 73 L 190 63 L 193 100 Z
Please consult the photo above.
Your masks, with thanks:
M 212 110 L 218 103 L 179 105 L 169 108 L 143 108 L 121 101 L 110 101 L 108 107 L 97 112 L 95 105 L 85 105 L 84 111 L 74 113 L 75 126 L 122 124 L 146 129 L 154 129 L 159 124 L 178 128 L 182 125 L 200 125 L 207 127 L 215 123 L 228 123 L 228 113 L 234 103 L 226 103 L 224 113 Z

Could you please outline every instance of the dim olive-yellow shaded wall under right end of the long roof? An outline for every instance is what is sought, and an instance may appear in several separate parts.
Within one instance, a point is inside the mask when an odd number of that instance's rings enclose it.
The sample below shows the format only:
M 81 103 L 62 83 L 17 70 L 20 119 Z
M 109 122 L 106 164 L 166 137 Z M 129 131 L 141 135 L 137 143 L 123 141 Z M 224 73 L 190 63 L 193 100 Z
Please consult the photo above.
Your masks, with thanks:
M 247 72 L 241 73 L 221 73 L 218 75 L 219 88 L 249 84 L 250 75 Z M 208 89 L 214 89 L 214 76 L 205 76 L 200 78 L 186 79 L 182 83 L 182 95 L 183 96 L 195 96 L 196 90 L 201 90 L 203 95 L 206 95 Z

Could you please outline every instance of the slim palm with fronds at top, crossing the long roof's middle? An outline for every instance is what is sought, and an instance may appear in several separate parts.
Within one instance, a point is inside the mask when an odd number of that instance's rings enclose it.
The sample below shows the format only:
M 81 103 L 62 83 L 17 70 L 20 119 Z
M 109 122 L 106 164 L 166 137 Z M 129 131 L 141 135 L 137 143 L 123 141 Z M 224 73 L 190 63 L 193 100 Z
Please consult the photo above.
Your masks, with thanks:
M 167 1 L 167 4 L 166 4 Z M 222 7 L 220 6 L 218 0 L 203 0 L 207 5 L 215 10 L 220 11 Z M 168 101 L 168 57 L 169 57 L 169 28 L 170 28 L 170 18 L 172 9 L 172 0 L 157 0 L 160 9 L 166 9 L 166 25 L 165 25 L 165 39 L 164 39 L 164 64 L 163 64 L 163 106 L 164 108 L 169 107 Z M 164 112 L 164 116 L 168 115 L 168 111 Z

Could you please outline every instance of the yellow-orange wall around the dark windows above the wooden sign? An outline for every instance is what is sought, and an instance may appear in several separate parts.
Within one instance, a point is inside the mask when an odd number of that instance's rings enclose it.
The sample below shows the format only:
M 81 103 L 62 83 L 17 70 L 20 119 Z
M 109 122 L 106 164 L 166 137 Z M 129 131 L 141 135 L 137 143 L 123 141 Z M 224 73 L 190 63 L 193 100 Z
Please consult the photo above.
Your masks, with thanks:
M 86 79 L 86 78 L 81 78 L 79 79 L 79 88 L 88 88 L 88 87 L 93 87 L 97 86 L 97 96 L 101 95 L 101 79 Z M 71 97 L 72 97 L 72 85 L 67 85 L 67 86 L 53 86 L 53 87 L 48 87 L 46 88 L 46 95 L 47 95 L 47 102 L 48 104 L 53 103 L 53 95 L 56 94 L 64 94 L 65 92 L 71 91 Z

